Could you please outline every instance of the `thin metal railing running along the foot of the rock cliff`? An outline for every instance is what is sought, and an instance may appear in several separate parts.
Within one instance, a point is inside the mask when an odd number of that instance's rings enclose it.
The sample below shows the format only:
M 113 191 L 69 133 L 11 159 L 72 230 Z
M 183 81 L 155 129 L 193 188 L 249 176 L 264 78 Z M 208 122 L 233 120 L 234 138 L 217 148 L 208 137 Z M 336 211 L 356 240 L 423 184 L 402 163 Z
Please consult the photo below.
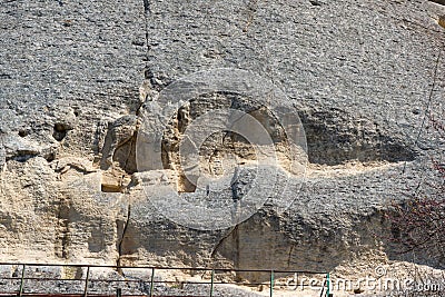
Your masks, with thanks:
M 1 281 L 18 281 L 18 288 L 13 291 L 0 291 L 0 296 L 149 296 L 149 297 L 168 297 L 168 296 L 188 296 L 188 297 L 214 297 L 215 296 L 215 287 L 217 285 L 244 285 L 244 286 L 267 286 L 269 287 L 269 296 L 273 297 L 274 296 L 274 291 L 276 290 L 276 279 L 277 276 L 281 276 L 283 277 L 288 277 L 289 275 L 291 276 L 297 276 L 297 275 L 310 275 L 310 276 L 315 276 L 318 275 L 318 277 L 322 280 L 322 286 L 319 286 L 319 296 L 332 296 L 329 293 L 329 273 L 325 273 L 325 271 L 305 271 L 305 270 L 265 270 L 265 269 L 229 269 L 229 268 L 205 268 L 205 267 L 154 267 L 154 266 L 107 266 L 107 265 L 80 265 L 80 264 L 27 264 L 27 263 L 0 263 L 0 267 L 1 266 L 11 266 L 14 267 L 16 271 L 19 271 L 19 274 L 12 274 L 12 276 L 0 276 L 0 280 Z M 81 275 L 79 277 L 39 277 L 39 276 L 34 276 L 32 274 L 28 274 L 27 275 L 27 269 L 30 270 L 30 268 L 37 268 L 36 270 L 38 270 L 38 268 L 41 267 L 59 267 L 59 268 L 77 268 L 80 269 Z M 21 268 L 21 271 L 20 269 Z M 123 274 L 126 269 L 141 269 L 141 270 L 148 270 L 150 271 L 147 275 L 146 279 L 141 279 L 141 278 L 126 278 L 122 277 L 120 279 L 98 279 L 98 278 L 91 278 L 91 269 L 93 268 L 102 268 L 102 269 L 112 269 L 115 271 L 120 271 L 120 274 Z M 160 285 L 164 284 L 165 286 L 169 286 L 169 285 L 175 285 L 178 284 L 178 280 L 157 280 L 155 278 L 156 273 L 160 271 L 160 270 L 174 270 L 174 271 L 185 271 L 186 274 L 197 274 L 200 273 L 202 274 L 202 276 L 205 274 L 210 274 L 209 276 L 209 280 L 207 281 L 197 281 L 197 280 L 187 280 L 187 281 L 180 281 L 181 285 L 184 286 L 185 284 L 188 285 L 207 285 L 208 286 L 208 291 L 206 293 L 206 295 L 165 295 L 165 294 L 155 294 L 155 288 L 156 285 Z M 221 274 L 257 274 L 257 275 L 268 275 L 268 280 L 264 280 L 264 281 L 256 281 L 256 283 L 240 283 L 240 281 L 227 281 L 227 280 L 218 280 L 217 279 L 217 275 L 221 275 Z M 4 270 L 3 270 L 4 274 Z M 125 274 L 123 274 L 125 275 Z M 85 276 L 85 277 L 83 277 Z M 264 277 L 265 279 L 265 277 Z M 26 290 L 26 281 L 30 283 L 30 286 L 33 287 L 33 289 L 29 289 L 27 288 Z M 42 281 L 63 281 L 63 283 L 69 283 L 69 281 L 77 281 L 78 283 L 78 287 L 79 287 L 79 283 L 82 284 L 82 291 L 78 291 L 78 293 L 66 293 L 66 294 L 53 294 L 51 291 L 38 291 L 36 290 L 37 284 L 42 283 Z M 91 294 L 89 293 L 89 288 L 90 285 L 92 285 L 93 283 L 106 283 L 108 284 L 108 287 L 111 286 L 111 284 L 116 284 L 115 286 L 115 293 L 113 294 L 108 294 L 108 295 L 101 295 L 101 294 Z M 147 294 L 137 294 L 137 295 L 131 295 L 131 294 L 125 294 L 122 295 L 122 289 L 120 288 L 122 286 L 122 284 L 131 284 L 131 283 L 136 283 L 136 284 L 142 284 L 142 285 L 148 285 L 148 293 Z M 305 284 L 300 283 L 300 284 L 295 284 L 296 286 L 294 287 L 301 287 L 303 289 L 305 289 Z M 10 286 L 13 286 L 12 284 L 10 284 Z M 309 286 L 309 285 L 306 285 Z

